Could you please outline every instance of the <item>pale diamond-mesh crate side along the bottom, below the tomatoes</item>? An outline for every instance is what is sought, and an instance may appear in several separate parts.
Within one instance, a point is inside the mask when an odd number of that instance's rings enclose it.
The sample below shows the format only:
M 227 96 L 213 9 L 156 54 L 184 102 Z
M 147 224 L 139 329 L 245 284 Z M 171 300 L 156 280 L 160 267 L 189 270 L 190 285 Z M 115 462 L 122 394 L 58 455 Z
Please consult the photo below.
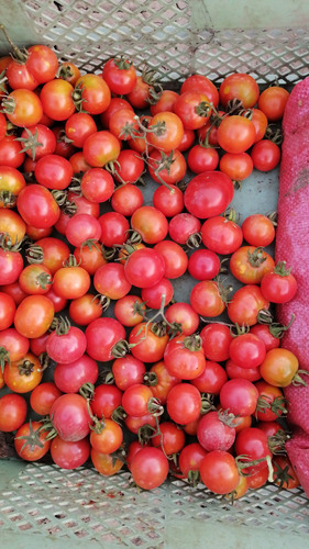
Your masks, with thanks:
M 266 485 L 229 504 L 198 485 L 172 480 L 139 491 L 130 473 L 104 478 L 92 469 L 30 464 L 0 494 L 0 529 L 100 544 L 159 549 L 173 518 L 273 528 L 309 536 L 309 501 L 300 489 Z M 307 538 L 309 539 L 309 538 Z

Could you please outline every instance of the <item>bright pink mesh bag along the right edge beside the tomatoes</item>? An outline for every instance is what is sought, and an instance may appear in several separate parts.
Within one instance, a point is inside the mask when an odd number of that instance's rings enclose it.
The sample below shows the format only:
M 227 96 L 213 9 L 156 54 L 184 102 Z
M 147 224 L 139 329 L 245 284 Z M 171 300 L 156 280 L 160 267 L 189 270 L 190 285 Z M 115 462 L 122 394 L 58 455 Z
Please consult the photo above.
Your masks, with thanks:
M 276 261 L 286 260 L 297 278 L 293 301 L 277 306 L 277 317 L 288 324 L 283 347 L 294 352 L 309 371 L 309 78 L 296 85 L 286 105 L 280 164 Z M 288 457 L 309 495 L 309 376 L 307 386 L 288 386 L 288 422 L 294 432 L 286 444 Z

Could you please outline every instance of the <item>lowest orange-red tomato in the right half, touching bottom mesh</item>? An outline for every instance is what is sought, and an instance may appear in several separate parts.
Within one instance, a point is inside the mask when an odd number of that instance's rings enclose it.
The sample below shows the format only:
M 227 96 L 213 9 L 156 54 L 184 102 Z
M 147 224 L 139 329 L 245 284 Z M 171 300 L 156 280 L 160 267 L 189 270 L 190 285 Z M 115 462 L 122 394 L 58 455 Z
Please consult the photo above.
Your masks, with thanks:
M 235 460 L 231 453 L 222 450 L 208 452 L 200 464 L 203 484 L 214 494 L 229 494 L 240 482 Z

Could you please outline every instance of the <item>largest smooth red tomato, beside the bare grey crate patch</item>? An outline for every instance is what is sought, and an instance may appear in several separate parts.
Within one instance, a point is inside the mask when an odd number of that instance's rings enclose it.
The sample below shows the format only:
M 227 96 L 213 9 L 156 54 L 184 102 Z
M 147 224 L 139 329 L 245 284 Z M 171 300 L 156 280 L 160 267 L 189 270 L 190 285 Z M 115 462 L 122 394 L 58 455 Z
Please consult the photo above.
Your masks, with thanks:
M 194 177 L 185 190 L 185 206 L 196 217 L 220 215 L 234 195 L 232 180 L 221 171 L 205 171 Z

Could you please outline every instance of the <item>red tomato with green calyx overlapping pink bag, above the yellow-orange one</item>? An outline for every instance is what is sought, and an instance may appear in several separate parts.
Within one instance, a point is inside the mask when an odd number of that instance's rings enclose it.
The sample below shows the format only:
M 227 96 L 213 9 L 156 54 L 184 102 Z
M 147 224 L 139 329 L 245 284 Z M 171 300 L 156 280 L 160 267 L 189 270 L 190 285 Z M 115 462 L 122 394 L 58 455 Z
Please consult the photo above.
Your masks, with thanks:
M 277 272 L 266 272 L 261 281 L 264 298 L 272 303 L 287 303 L 297 292 L 297 281 L 294 274 L 282 276 Z

